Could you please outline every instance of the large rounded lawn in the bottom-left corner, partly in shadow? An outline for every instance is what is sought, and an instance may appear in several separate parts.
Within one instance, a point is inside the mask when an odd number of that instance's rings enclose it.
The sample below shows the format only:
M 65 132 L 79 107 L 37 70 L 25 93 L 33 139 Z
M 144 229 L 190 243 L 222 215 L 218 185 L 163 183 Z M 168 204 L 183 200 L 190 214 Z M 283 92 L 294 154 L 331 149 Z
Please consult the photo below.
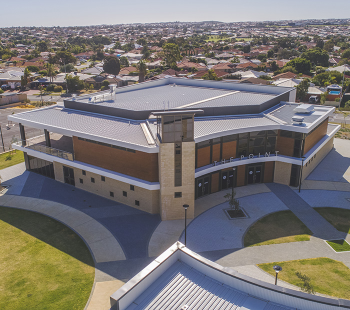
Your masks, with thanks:
M 82 310 L 94 263 L 82 239 L 62 223 L 0 206 L 0 309 Z

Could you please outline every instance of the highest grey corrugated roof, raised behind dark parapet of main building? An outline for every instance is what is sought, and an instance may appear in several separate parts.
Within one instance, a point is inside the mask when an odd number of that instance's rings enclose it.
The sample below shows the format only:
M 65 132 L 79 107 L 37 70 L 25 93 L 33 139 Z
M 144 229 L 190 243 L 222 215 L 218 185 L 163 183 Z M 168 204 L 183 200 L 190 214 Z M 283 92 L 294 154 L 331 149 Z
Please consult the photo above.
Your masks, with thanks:
M 130 88 L 126 89 L 129 90 Z M 212 99 L 220 95 L 229 94 L 220 98 Z M 110 107 L 118 107 L 132 110 L 162 110 L 164 108 L 178 108 L 180 106 L 209 100 L 205 103 L 194 106 L 230 106 L 260 104 L 268 99 L 273 98 L 273 94 L 261 94 L 254 92 L 237 92 L 234 90 L 224 90 L 215 88 L 183 86 L 183 85 L 160 85 L 144 89 L 129 90 L 118 92 L 106 100 L 93 104 Z M 79 102 L 88 102 L 88 98 L 76 99 Z M 168 104 L 169 102 L 169 104 Z

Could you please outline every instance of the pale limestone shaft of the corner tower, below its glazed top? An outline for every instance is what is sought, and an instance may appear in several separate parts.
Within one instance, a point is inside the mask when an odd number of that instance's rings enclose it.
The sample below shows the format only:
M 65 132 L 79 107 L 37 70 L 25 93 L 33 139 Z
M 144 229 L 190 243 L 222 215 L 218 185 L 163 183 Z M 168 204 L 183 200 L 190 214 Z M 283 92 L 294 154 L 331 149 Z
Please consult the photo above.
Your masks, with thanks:
M 181 186 L 174 186 L 174 143 L 159 145 L 159 208 L 162 220 L 184 218 L 183 204 L 188 204 L 187 217 L 194 216 L 194 158 L 195 142 L 182 142 Z M 174 193 L 181 192 L 175 198 Z

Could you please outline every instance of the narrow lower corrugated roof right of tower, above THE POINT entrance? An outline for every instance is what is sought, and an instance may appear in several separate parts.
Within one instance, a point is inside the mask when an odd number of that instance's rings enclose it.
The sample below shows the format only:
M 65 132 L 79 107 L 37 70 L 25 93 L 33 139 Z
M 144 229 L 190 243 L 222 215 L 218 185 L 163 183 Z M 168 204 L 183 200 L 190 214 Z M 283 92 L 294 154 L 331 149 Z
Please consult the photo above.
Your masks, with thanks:
M 240 128 L 254 130 L 256 126 L 276 125 L 277 122 L 259 115 L 246 117 L 222 117 L 194 119 L 194 138 L 216 132 L 222 132 Z

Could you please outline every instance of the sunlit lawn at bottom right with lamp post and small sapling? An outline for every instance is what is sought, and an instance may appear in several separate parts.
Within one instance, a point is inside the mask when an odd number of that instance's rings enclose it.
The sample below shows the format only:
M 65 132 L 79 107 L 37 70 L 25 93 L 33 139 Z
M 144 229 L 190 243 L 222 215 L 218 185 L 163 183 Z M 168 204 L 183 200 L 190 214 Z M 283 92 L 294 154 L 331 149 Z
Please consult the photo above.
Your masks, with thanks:
M 262 263 L 258 267 L 274 276 L 272 266 L 276 264 L 283 268 L 278 273 L 279 279 L 300 287 L 300 280 L 295 275 L 299 271 L 311 279 L 310 283 L 316 292 L 350 299 L 350 269 L 340 261 L 319 257 Z

